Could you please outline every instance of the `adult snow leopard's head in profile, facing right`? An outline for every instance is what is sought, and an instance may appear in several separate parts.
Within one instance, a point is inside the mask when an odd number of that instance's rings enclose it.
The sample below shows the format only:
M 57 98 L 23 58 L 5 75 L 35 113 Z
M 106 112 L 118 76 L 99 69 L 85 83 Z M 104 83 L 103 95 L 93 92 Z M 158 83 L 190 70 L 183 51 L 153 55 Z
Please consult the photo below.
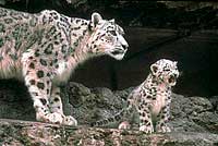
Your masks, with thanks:
M 102 20 L 98 13 L 92 15 L 92 52 L 98 56 L 108 54 L 117 60 L 122 60 L 128 42 L 124 39 L 123 28 L 114 20 Z

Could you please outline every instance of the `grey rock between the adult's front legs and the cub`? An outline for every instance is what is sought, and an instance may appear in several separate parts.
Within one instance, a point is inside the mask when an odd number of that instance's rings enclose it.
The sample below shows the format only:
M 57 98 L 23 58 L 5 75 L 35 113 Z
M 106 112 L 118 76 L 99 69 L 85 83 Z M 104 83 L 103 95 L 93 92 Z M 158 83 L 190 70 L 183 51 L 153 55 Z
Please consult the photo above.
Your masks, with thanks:
M 64 111 L 74 115 L 80 124 L 110 117 L 122 109 L 123 99 L 108 88 L 92 88 L 78 83 L 70 83 L 66 87 Z M 66 95 L 66 96 L 65 96 Z

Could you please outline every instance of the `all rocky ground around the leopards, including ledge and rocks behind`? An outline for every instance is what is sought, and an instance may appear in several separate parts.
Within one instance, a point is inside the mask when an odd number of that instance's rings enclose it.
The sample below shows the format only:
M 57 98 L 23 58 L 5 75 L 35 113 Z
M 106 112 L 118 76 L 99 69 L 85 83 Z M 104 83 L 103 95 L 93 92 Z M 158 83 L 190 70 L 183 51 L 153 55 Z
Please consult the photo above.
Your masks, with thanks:
M 12 81 L 14 82 L 14 81 Z M 0 144 L 8 145 L 218 145 L 217 97 L 185 97 L 173 94 L 170 126 L 172 133 L 145 135 L 137 130 L 88 127 L 93 121 L 122 109 L 133 88 L 111 92 L 87 88 L 71 82 L 62 87 L 64 112 L 78 120 L 78 127 L 35 121 L 26 88 L 21 83 L 0 82 Z M 17 89 L 19 87 L 19 89 Z M 5 120 L 14 119 L 14 120 Z

